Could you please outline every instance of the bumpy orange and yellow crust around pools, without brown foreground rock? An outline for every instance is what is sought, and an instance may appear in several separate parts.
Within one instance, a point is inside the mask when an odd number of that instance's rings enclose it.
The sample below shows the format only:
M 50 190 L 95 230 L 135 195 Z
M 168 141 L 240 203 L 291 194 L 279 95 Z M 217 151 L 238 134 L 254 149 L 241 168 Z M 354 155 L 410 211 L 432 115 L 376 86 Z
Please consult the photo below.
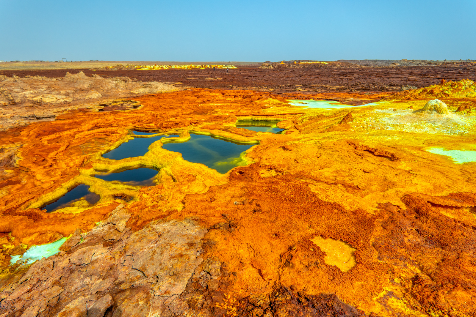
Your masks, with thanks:
M 476 316 L 476 162 L 426 151 L 475 151 L 475 118 L 459 114 L 465 125 L 455 133 L 423 128 L 434 118 L 407 108 L 436 98 L 424 93 L 414 101 L 325 110 L 290 106 L 267 93 L 197 89 L 136 98 L 143 106 L 135 110 L 72 111 L 2 132 L 3 151 L 16 155 L 2 176 L 4 274 L 14 274 L 10 256 L 24 245 L 91 230 L 124 203 L 114 198 L 122 195 L 133 198 L 127 203 L 133 231 L 152 220 L 189 218 L 209 229 L 206 256 L 234 272 L 215 288 L 217 307 L 228 315 L 237 314 L 240 298 L 284 287 L 309 296 L 335 293 L 365 314 Z M 446 102 L 450 110 L 458 106 Z M 238 119 L 280 120 L 287 131 L 239 129 Z M 419 124 L 415 132 L 406 130 L 410 121 Z M 247 166 L 227 174 L 161 147 L 120 163 L 100 156 L 130 139 L 132 129 L 259 144 L 247 151 Z M 160 169 L 159 184 L 105 188 L 97 205 L 79 213 L 38 209 L 74 183 L 96 186 L 94 169 L 138 164 Z M 324 240 L 349 248 L 319 247 Z M 334 261 L 355 264 L 332 265 L 333 245 Z

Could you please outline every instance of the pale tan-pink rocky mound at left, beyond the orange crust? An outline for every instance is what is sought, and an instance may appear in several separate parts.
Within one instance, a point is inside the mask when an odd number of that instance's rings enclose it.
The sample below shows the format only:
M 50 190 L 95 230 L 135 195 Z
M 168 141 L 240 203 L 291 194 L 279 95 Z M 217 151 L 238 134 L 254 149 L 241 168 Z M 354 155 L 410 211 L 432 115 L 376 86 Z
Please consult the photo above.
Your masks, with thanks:
M 41 115 L 56 115 L 73 108 L 91 107 L 99 102 L 127 96 L 177 91 L 178 88 L 160 82 L 138 82 L 129 77 L 102 78 L 66 73 L 63 78 L 27 76 L 0 77 L 0 129 L 41 119 Z M 54 120 L 54 116 L 50 116 Z

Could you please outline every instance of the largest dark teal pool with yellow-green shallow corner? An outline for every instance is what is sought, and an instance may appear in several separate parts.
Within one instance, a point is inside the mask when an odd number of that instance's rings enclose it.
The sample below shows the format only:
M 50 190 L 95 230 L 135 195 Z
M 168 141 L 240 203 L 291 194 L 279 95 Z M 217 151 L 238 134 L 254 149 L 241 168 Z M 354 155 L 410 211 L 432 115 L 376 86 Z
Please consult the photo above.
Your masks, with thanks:
M 208 135 L 190 134 L 189 141 L 166 143 L 162 148 L 181 153 L 184 160 L 205 164 L 224 174 L 233 167 L 242 165 L 240 154 L 253 145 L 255 144 L 240 144 Z

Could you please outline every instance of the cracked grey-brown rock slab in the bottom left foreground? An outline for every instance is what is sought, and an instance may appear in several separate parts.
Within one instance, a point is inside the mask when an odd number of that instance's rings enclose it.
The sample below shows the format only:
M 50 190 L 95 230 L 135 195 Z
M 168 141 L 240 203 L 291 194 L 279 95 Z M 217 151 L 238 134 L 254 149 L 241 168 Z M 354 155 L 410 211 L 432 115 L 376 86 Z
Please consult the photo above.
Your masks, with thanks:
M 76 232 L 66 252 L 4 281 L 0 316 L 102 317 L 108 309 L 114 316 L 148 316 L 187 305 L 177 296 L 199 273 L 207 230 L 185 220 L 131 232 L 124 228 L 130 213 L 121 207 L 87 234 Z M 206 274 L 221 275 L 219 262 L 207 263 Z

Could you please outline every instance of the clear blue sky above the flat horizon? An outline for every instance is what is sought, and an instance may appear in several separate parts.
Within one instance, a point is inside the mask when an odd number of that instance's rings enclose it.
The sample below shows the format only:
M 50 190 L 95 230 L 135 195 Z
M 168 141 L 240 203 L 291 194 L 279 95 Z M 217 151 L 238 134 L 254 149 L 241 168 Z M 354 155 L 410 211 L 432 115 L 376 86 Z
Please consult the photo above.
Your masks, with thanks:
M 476 59 L 476 0 L 0 0 L 0 60 Z

